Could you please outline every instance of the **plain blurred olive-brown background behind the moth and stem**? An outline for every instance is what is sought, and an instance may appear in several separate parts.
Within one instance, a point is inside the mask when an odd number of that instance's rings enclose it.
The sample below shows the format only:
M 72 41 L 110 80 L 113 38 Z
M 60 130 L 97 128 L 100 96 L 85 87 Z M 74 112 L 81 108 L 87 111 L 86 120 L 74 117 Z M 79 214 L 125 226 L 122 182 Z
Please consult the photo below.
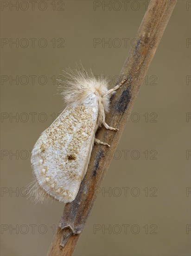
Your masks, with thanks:
M 2 2 L 8 7 L 2 7 Z M 124 1 L 44 1 L 39 7 L 42 1 L 38 1 L 34 10 L 30 1 L 18 2 L 19 9 L 11 10 L 10 1 L 1 1 L 0 35 L 7 42 L 0 48 L 1 255 L 45 256 L 64 204 L 34 204 L 22 188 L 32 181 L 30 150 L 53 116 L 64 109 L 54 78 L 80 61 L 96 75 L 117 76 L 149 1 L 130 0 L 127 6 Z M 26 2 L 28 10 L 24 10 Z M 191 230 L 186 232 L 186 227 L 191 229 L 191 157 L 186 159 L 191 123 L 186 120 L 186 113 L 191 112 L 191 82 L 186 82 L 191 52 L 191 45 L 186 45 L 191 38 L 189 2 L 179 0 L 172 13 L 97 190 L 100 193 L 75 256 L 191 254 Z M 59 7 L 64 10 L 57 10 Z M 10 45 L 16 38 L 18 47 Z M 29 42 L 26 47 L 24 38 Z M 34 47 L 30 38 L 36 39 Z M 42 38 L 47 41 L 45 47 L 38 45 L 43 44 Z M 95 38 L 101 43 L 94 45 Z M 109 38 L 110 47 L 102 44 Z M 124 38 L 129 39 L 127 45 Z M 34 83 L 32 75 L 36 76 Z M 10 81 L 11 76 L 18 76 L 18 84 Z M 41 76 L 47 79 L 45 85 Z M 25 79 L 29 80 L 26 84 Z M 110 83 L 110 88 L 114 85 Z M 29 113 L 36 113 L 33 120 Z M 18 117 L 12 119 L 15 115 Z M 43 121 L 44 117 L 47 120 Z

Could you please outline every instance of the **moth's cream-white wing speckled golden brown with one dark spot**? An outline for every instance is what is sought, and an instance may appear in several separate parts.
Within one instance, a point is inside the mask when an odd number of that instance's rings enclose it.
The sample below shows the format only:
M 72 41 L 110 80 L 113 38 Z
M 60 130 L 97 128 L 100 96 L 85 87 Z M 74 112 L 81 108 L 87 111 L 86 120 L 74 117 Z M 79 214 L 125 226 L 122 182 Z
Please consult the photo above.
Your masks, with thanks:
M 86 174 L 97 128 L 98 106 L 66 108 L 32 150 L 38 185 L 61 202 L 72 202 Z

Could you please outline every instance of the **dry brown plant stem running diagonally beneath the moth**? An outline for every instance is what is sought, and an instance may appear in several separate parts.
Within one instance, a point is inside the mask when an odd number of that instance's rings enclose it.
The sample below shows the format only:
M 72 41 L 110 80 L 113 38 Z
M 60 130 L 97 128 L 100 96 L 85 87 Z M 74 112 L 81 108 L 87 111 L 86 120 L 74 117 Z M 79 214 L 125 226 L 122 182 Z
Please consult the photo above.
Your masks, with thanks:
M 128 116 L 127 114 L 132 110 L 140 85 L 159 45 L 176 0 L 155 0 L 155 3 L 153 8 L 153 3 L 150 2 L 136 35 L 136 45 L 131 47 L 121 70 L 121 80 L 127 77 L 127 81 L 111 99 L 109 116 L 115 118 L 106 121 L 109 126 L 118 128 L 119 131 L 101 128 L 96 133 L 96 138 L 107 142 L 111 148 L 103 145 L 94 146 L 88 171 L 76 199 L 65 205 L 57 233 L 48 252 L 49 256 L 72 255 L 79 234 L 87 221 L 96 197 L 96 188 L 108 169 L 110 156 L 117 147 L 127 121 L 125 116 Z

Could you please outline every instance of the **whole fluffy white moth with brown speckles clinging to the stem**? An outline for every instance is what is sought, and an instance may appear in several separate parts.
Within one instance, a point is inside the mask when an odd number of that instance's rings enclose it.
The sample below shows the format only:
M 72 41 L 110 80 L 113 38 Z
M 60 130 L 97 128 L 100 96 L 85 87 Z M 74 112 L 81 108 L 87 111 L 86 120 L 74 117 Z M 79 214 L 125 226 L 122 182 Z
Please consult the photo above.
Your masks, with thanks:
M 108 90 L 107 82 L 103 78 L 96 81 L 92 73 L 67 69 L 65 74 L 61 94 L 67 107 L 40 135 L 32 150 L 35 185 L 31 192 L 36 201 L 46 195 L 72 202 L 86 174 L 94 142 L 109 147 L 95 138 L 97 128 L 103 125 L 117 131 L 105 122 L 105 113 L 110 95 L 127 79 Z

